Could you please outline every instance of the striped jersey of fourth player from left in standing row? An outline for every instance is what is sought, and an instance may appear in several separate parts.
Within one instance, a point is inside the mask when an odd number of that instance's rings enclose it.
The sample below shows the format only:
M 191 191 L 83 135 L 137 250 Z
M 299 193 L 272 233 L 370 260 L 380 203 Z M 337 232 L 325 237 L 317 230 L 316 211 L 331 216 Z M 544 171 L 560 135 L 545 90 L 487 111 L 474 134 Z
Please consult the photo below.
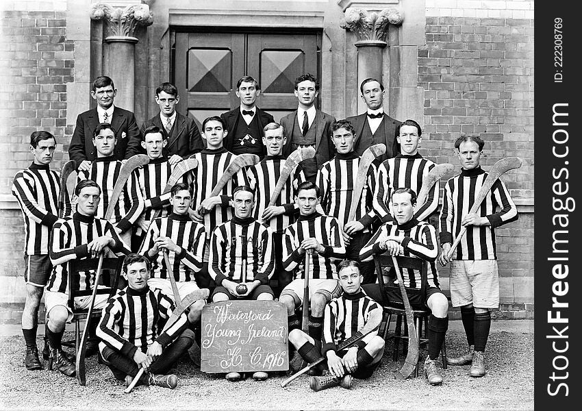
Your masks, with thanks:
M 193 155 L 198 160 L 198 166 L 192 173 L 194 173 L 194 203 L 192 208 L 200 206 L 203 200 L 210 197 L 210 193 L 220 177 L 226 171 L 231 162 L 236 158 L 236 155 L 227 151 L 224 147 L 220 149 L 203 149 L 199 153 Z M 220 195 L 223 200 L 226 196 L 232 195 L 232 191 L 236 186 L 246 184 L 245 173 L 241 169 L 232 179 L 225 184 Z M 212 233 L 214 227 L 229 221 L 232 217 L 231 207 L 223 201 L 212 209 L 211 212 L 204 214 L 204 229 L 207 233 Z

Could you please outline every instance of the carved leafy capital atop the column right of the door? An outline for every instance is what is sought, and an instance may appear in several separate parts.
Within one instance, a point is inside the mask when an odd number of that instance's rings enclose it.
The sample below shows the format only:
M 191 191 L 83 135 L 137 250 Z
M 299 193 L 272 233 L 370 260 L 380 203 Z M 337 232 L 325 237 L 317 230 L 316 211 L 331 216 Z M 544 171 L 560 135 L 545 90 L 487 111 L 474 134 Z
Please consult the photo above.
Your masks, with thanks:
M 386 45 L 388 24 L 400 25 L 404 19 L 402 12 L 394 8 L 386 8 L 381 12 L 368 12 L 361 8 L 347 8 L 341 27 L 351 30 L 357 36 L 359 45 Z

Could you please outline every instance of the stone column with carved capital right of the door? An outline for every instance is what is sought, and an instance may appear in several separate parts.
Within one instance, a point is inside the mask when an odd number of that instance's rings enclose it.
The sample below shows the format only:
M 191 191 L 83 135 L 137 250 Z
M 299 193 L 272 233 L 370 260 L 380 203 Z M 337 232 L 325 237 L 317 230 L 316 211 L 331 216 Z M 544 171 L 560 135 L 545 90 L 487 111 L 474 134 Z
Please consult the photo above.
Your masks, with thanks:
M 381 12 L 368 12 L 361 8 L 347 8 L 341 27 L 354 32 L 357 41 L 357 84 L 368 77 L 380 79 L 385 87 L 388 82 L 382 80 L 383 49 L 388 44 L 386 34 L 388 25 L 399 25 L 403 21 L 401 12 L 394 8 L 386 8 Z M 358 99 L 357 112 L 363 112 L 366 105 Z

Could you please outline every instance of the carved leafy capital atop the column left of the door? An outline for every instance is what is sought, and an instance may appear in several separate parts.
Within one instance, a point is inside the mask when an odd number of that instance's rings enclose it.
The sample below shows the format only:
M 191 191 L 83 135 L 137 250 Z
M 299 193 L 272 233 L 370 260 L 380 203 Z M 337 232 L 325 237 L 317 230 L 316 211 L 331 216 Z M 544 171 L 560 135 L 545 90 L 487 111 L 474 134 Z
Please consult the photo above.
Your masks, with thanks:
M 136 28 L 147 27 L 153 23 L 153 13 L 149 10 L 149 5 L 142 3 L 114 8 L 99 1 L 91 5 L 89 16 L 94 21 L 105 21 L 105 41 L 138 42 L 134 36 Z

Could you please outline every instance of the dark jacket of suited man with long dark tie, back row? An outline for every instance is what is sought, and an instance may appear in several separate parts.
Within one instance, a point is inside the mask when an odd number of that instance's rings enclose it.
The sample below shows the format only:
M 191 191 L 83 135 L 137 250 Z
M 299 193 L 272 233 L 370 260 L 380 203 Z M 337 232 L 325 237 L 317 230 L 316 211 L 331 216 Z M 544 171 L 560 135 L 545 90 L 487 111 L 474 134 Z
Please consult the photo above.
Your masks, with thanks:
M 283 155 L 288 157 L 290 155 L 291 140 L 293 138 L 293 127 L 295 126 L 295 119 L 297 117 L 297 110 L 287 114 L 281 119 L 281 125 L 285 128 L 285 136 L 287 137 L 287 142 L 285 147 L 283 147 Z M 317 168 L 322 166 L 323 163 L 329 161 L 335 155 L 336 147 L 331 143 L 331 125 L 336 123 L 336 118 L 322 112 L 321 110 L 316 110 L 315 119 L 311 127 L 315 127 L 315 160 L 317 163 Z

